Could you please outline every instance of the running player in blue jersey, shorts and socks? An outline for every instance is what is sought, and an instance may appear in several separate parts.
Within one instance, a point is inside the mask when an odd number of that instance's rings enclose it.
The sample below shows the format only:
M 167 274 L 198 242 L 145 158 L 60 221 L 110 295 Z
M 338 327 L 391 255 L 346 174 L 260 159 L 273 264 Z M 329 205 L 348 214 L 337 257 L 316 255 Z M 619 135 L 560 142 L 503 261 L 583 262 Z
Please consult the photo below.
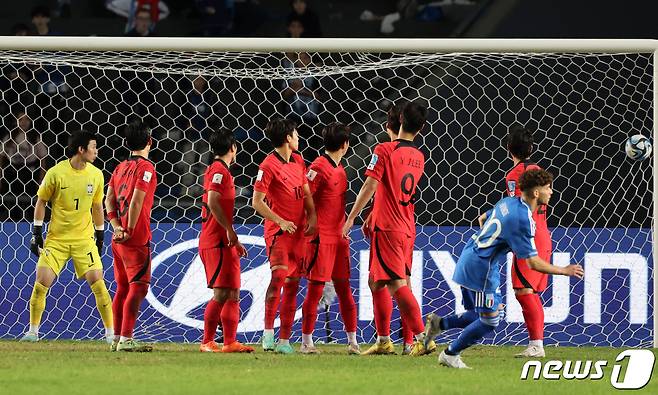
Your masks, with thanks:
M 538 205 L 548 204 L 553 194 L 552 182 L 553 176 L 545 170 L 524 172 L 519 178 L 522 196 L 504 198 L 487 211 L 482 228 L 466 243 L 453 275 L 453 281 L 461 286 L 466 312 L 448 317 L 430 314 L 425 324 L 426 342 L 443 330 L 464 328 L 439 355 L 440 364 L 468 369 L 460 353 L 498 326 L 502 300 L 500 267 L 508 252 L 525 259 L 538 272 L 583 277 L 580 265 L 554 266 L 537 254 L 532 213 Z

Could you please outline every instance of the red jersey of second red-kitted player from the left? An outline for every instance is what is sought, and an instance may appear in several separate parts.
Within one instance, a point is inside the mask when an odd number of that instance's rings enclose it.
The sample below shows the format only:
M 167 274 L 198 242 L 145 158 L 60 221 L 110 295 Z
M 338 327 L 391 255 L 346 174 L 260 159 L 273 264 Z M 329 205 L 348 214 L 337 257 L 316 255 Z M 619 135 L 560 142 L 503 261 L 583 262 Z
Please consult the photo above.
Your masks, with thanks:
M 220 194 L 219 205 L 230 224 L 233 223 L 235 208 L 235 185 L 228 165 L 221 159 L 208 166 L 203 176 L 203 206 L 201 208 L 201 236 L 199 248 L 217 248 L 228 245 L 226 229 L 217 222 L 208 208 L 208 191 Z

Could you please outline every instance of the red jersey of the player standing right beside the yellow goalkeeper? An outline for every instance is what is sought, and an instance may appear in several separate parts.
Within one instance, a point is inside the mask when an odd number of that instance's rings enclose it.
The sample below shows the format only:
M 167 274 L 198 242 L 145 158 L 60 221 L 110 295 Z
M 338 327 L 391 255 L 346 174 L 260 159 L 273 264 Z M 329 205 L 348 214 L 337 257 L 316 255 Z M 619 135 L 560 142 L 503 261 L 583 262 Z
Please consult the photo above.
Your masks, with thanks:
M 128 208 L 135 189 L 146 192 L 135 229 L 124 245 L 143 246 L 151 241 L 151 209 L 157 183 L 153 162 L 141 156 L 131 156 L 114 169 L 109 185 L 116 195 L 117 214 L 121 226 L 128 229 Z

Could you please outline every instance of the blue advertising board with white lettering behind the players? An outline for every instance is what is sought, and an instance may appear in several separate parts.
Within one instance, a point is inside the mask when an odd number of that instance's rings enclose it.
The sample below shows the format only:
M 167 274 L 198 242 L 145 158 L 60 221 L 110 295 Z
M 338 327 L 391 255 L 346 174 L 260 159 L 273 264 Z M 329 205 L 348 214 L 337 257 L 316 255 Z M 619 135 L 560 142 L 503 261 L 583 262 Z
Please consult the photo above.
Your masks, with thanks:
M 28 303 L 34 281 L 35 258 L 28 243 L 29 223 L 0 224 L 0 337 L 20 336 L 29 321 Z M 248 249 L 242 259 L 241 319 L 238 340 L 256 342 L 263 329 L 264 295 L 270 280 L 264 251 L 263 228 L 236 228 Z M 423 314 L 447 315 L 463 310 L 459 288 L 452 272 L 471 227 L 418 227 L 412 270 L 412 290 Z M 556 228 L 553 263 L 580 263 L 585 278 L 555 276 L 542 295 L 546 312 L 546 344 L 649 346 L 653 333 L 653 260 L 649 229 Z M 150 341 L 199 341 L 203 332 L 203 310 L 211 295 L 198 257 L 198 224 L 159 223 L 153 228 L 153 279 L 142 304 L 136 336 Z M 109 242 L 109 234 L 106 235 Z M 351 233 L 351 284 L 358 305 L 357 335 L 361 342 L 375 336 L 372 299 L 367 287 L 369 244 L 358 229 Z M 106 243 L 107 245 L 108 243 Z M 105 278 L 110 293 L 113 282 L 112 257 L 106 246 L 103 255 Z M 522 344 L 527 341 L 520 307 L 509 285 L 509 265 L 504 277 L 505 322 L 485 339 L 487 344 Z M 301 333 L 301 302 L 298 295 L 293 340 Z M 510 297 L 511 296 L 511 297 Z M 275 326 L 278 327 L 278 319 Z M 393 335 L 399 333 L 399 315 L 394 313 Z M 84 281 L 75 280 L 68 267 L 50 289 L 41 332 L 45 338 L 100 339 L 102 324 L 95 302 Z M 320 341 L 345 341 L 342 321 L 334 301 L 320 311 L 315 335 Z M 449 341 L 455 331 L 442 334 Z

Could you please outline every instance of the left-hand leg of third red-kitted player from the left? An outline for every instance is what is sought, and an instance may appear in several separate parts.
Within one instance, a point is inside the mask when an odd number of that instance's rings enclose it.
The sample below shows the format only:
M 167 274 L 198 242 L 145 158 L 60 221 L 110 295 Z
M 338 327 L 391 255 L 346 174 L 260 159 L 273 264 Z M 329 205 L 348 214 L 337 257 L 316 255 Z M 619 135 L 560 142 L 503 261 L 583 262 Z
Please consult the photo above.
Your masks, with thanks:
M 265 240 L 267 257 L 270 261 L 272 277 L 265 293 L 265 329 L 263 330 L 263 351 L 274 351 L 274 319 L 279 310 L 281 289 L 288 275 L 287 252 L 281 248 L 281 236 Z

